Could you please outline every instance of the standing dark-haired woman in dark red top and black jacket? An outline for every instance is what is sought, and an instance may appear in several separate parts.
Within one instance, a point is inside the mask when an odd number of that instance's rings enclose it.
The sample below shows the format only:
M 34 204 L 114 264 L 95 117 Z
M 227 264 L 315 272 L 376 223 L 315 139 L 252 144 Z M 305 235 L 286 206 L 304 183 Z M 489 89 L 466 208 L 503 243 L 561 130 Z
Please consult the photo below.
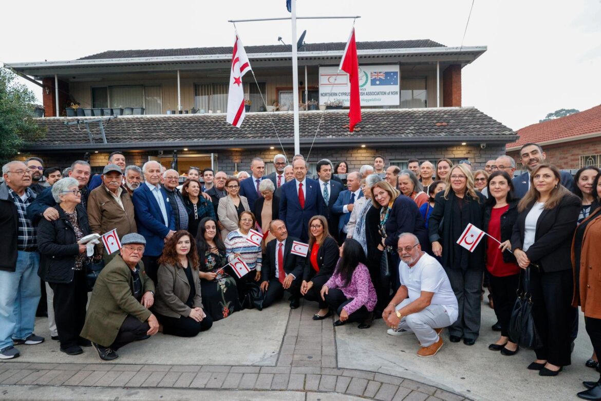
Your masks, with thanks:
M 519 350 L 509 337 L 511 310 L 516 303 L 519 271 L 516 257 L 511 253 L 511 233 L 517 219 L 517 203 L 513 199 L 513 183 L 505 171 L 492 173 L 488 184 L 489 197 L 484 209 L 483 228 L 486 237 L 486 269 L 490 273 L 490 289 L 495 314 L 501 325 L 501 337 L 489 345 L 492 351 L 501 351 L 502 355 L 514 355 Z M 506 250 L 507 249 L 507 250 Z

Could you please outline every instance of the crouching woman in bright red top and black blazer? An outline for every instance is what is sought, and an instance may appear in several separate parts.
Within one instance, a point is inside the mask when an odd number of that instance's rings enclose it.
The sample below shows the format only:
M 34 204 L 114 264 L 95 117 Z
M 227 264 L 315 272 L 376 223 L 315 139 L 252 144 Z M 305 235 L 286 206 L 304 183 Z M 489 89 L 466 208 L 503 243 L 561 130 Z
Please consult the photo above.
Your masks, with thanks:
M 328 220 L 322 215 L 313 216 L 309 220 L 309 252 L 301 284 L 301 295 L 319 303 L 319 311 L 313 315 L 313 320 L 332 315 L 320 291 L 332 277 L 339 254 L 338 244 L 328 230 Z

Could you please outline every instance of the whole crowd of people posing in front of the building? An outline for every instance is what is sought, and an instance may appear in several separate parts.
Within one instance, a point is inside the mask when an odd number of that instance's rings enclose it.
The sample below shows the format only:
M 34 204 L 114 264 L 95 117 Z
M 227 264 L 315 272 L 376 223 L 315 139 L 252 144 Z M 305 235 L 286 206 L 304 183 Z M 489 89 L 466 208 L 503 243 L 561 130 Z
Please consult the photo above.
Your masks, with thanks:
M 516 177 L 506 155 L 474 172 L 468 160 L 412 159 L 400 170 L 376 156 L 352 171 L 323 159 L 312 179 L 302 155 L 289 165 L 276 155 L 268 176 L 254 158 L 247 177 L 192 167 L 181 186 L 178 171 L 126 165 L 120 152 L 94 176 L 85 161 L 64 178 L 38 158 L 9 162 L 0 185 L 0 358 L 44 341 L 34 334 L 40 278 L 52 338 L 68 355 L 93 346 L 114 360 L 132 341 L 158 331 L 192 337 L 288 292 L 290 308 L 301 297 L 317 302 L 313 319 L 335 314 L 335 326 L 365 329 L 381 317 L 388 334 L 416 335 L 417 354 L 431 357 L 444 328 L 451 342 L 477 341 L 484 285 L 500 331 L 489 349 L 510 356 L 519 351 L 511 311 L 528 275 L 542 343 L 528 369 L 555 376 L 571 364 L 580 306 L 595 350 L 587 366 L 599 370 L 599 170 L 572 177 L 537 144 L 523 145 L 520 158 L 526 171 Z M 466 249 L 457 240 L 469 224 L 488 235 Z M 120 250 L 99 244 L 90 255 L 82 239 L 114 228 Z M 236 260 L 249 269 L 241 278 Z M 94 263 L 104 268 L 86 309 Z M 584 385 L 579 397 L 601 399 L 599 381 Z

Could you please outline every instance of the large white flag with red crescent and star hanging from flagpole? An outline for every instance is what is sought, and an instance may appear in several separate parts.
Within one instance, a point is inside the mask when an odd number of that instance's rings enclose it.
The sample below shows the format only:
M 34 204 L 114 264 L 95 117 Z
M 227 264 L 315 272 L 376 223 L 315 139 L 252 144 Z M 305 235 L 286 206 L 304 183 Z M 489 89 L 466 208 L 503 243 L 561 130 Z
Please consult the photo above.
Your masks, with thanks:
M 242 41 L 236 32 L 234 52 L 231 56 L 230 92 L 227 99 L 227 122 L 240 128 L 244 121 L 244 88 L 242 76 L 251 70 L 248 56 L 242 46 Z

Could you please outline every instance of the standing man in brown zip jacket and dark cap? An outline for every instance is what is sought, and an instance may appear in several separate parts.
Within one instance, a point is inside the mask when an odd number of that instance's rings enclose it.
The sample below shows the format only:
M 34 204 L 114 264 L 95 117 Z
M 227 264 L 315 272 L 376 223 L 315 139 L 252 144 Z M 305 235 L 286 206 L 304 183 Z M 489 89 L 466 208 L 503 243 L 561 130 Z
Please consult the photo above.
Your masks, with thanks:
M 92 233 L 102 235 L 117 228 L 117 235 L 121 238 L 125 234 L 138 232 L 132 197 L 121 185 L 122 180 L 121 167 L 116 164 L 105 166 L 102 185 L 94 188 L 88 198 L 88 221 Z M 99 244 L 97 254 L 102 255 L 108 264 L 116 253 L 109 255 L 103 250 Z

